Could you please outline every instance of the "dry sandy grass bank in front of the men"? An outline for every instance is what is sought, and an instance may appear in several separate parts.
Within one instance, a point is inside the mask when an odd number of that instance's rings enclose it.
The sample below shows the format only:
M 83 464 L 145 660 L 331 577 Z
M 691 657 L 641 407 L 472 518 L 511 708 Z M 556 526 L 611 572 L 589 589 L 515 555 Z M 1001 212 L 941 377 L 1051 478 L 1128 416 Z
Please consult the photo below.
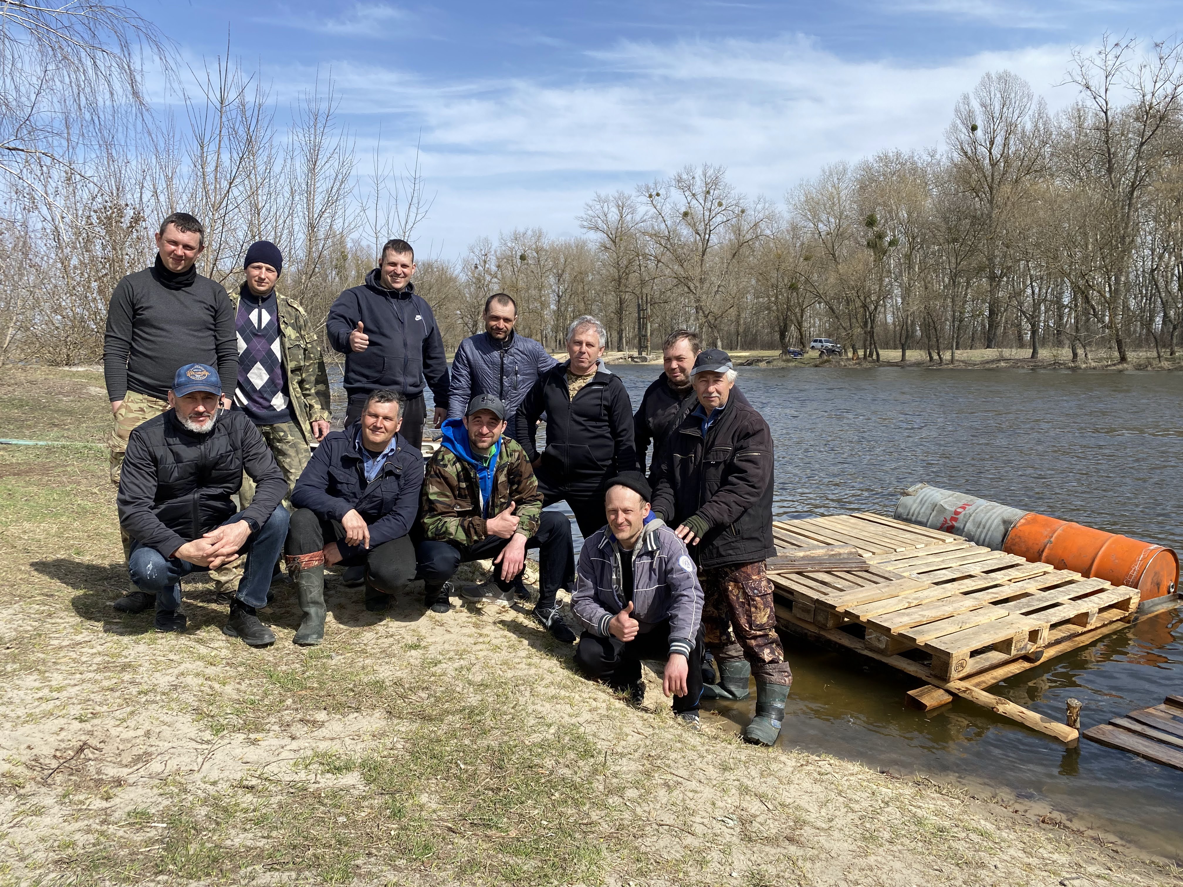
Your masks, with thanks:
M 62 439 L 105 434 L 97 376 L 26 373 L 0 436 L 44 439 L 33 384 L 67 404 Z M 157 635 L 109 607 L 97 448 L 0 448 L 0 518 L 2 885 L 1178 882 L 952 789 L 634 711 L 516 610 L 413 595 L 383 619 L 334 578 L 303 650 L 277 585 L 279 640 L 252 650 L 195 582 L 189 630 Z

